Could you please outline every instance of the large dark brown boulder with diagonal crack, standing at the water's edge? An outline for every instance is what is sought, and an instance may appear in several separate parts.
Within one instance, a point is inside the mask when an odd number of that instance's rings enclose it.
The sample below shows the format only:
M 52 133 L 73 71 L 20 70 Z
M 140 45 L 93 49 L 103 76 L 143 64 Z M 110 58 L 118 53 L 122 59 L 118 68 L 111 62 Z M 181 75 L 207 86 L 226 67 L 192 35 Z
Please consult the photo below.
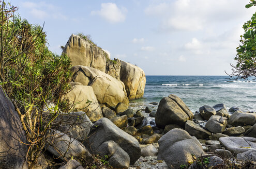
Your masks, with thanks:
M 185 127 L 185 123 L 192 119 L 193 113 L 183 100 L 174 94 L 161 99 L 155 116 L 156 125 L 159 128 L 164 128 L 169 124 Z

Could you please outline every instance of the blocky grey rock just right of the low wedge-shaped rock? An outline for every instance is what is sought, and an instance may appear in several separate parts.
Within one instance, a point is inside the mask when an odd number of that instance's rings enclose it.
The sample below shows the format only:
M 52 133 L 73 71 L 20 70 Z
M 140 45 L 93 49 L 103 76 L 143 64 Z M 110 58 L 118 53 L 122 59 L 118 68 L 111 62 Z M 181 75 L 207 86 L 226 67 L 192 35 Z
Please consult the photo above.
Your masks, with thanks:
M 227 117 L 212 115 L 208 122 L 205 124 L 205 128 L 213 133 L 222 133 L 227 126 L 227 123 Z

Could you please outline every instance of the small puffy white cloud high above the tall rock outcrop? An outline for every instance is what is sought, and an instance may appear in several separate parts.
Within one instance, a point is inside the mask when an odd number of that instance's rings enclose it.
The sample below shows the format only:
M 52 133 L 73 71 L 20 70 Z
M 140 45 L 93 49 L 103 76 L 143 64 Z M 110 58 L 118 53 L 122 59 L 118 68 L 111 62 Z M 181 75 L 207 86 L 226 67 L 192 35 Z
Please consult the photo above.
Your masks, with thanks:
M 99 15 L 110 23 L 124 22 L 126 18 L 126 8 L 118 8 L 114 3 L 102 3 L 99 11 L 92 11 L 92 15 Z

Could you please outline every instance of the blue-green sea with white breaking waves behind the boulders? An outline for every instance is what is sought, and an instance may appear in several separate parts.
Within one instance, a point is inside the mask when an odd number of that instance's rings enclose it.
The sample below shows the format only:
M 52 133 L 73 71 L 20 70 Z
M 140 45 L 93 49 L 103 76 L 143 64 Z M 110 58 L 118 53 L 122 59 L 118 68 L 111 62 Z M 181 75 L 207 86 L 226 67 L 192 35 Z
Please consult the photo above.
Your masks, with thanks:
M 175 94 L 194 113 L 203 105 L 223 103 L 228 109 L 256 112 L 256 79 L 234 80 L 229 76 L 146 76 L 144 97 L 130 101 L 135 110 Z

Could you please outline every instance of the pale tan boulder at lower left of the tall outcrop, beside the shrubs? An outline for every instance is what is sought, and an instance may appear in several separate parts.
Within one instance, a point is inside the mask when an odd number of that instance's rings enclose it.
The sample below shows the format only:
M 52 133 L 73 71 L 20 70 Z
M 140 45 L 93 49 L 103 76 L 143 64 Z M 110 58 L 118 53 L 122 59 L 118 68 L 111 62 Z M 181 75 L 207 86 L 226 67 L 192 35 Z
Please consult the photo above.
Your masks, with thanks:
M 79 111 L 84 111 L 92 122 L 95 122 L 103 117 L 98 100 L 91 86 L 76 85 L 68 92 L 64 99 L 70 104 L 74 104 L 73 108 Z M 92 103 L 87 102 L 87 100 Z

